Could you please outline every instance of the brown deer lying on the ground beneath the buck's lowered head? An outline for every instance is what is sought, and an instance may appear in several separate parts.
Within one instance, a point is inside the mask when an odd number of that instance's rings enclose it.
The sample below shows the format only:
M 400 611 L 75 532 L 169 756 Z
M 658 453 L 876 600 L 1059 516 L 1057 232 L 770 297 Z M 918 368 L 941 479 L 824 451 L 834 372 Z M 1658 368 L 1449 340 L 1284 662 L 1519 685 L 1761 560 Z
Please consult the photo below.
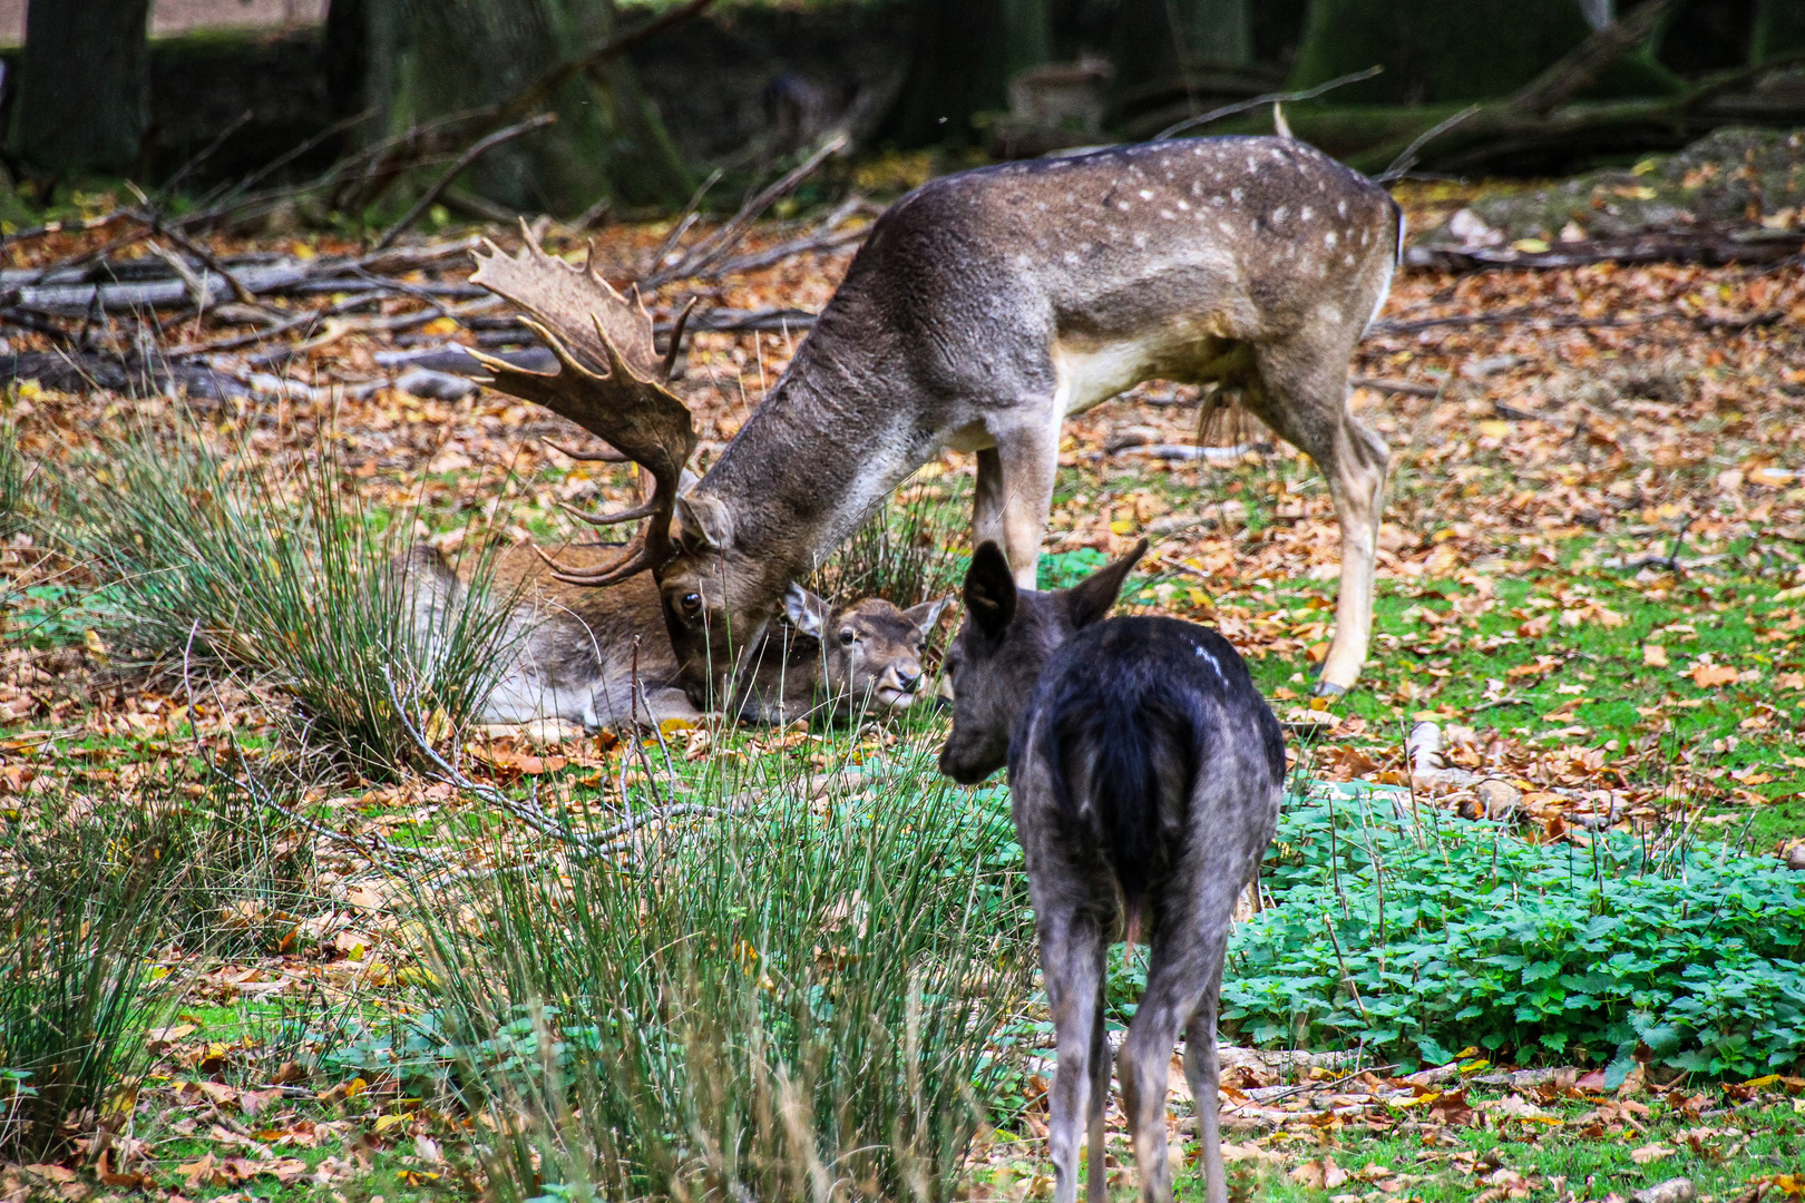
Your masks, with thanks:
M 616 546 L 565 546 L 558 559 L 594 566 L 617 554 Z M 426 545 L 408 552 L 404 570 L 413 586 L 413 628 L 440 629 L 435 611 L 453 604 L 466 583 Z M 560 718 L 596 729 L 700 718 L 677 680 L 677 657 L 650 577 L 614 590 L 570 586 L 552 577 L 536 548 L 514 546 L 495 559 L 493 593 L 514 601 L 505 660 L 478 721 Z M 818 714 L 848 718 L 859 709 L 908 709 L 921 693 L 922 644 L 948 601 L 899 610 L 866 597 L 830 606 L 792 584 L 785 606 L 794 629 L 774 631 L 751 655 L 736 716 L 791 723 Z

